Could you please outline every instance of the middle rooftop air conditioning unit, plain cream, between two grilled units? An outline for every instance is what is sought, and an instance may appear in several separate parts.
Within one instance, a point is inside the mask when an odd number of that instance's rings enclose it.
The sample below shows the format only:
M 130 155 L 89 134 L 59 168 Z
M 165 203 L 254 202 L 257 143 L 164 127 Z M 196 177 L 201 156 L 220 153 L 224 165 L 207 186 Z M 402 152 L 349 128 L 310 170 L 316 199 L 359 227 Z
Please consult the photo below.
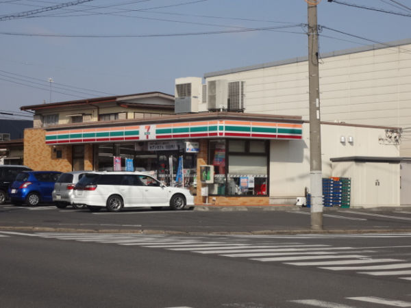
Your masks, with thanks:
M 228 109 L 228 82 L 225 79 L 207 81 L 208 110 Z

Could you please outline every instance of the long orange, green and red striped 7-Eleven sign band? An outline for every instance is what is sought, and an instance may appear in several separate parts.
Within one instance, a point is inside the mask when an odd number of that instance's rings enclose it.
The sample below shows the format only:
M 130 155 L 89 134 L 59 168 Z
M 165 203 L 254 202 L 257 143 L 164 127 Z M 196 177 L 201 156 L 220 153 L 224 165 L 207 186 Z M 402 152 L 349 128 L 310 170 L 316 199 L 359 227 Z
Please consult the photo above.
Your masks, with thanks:
M 69 131 L 47 131 L 46 144 L 215 137 L 292 140 L 302 139 L 302 126 L 299 123 L 210 120 L 129 127 L 74 129 Z

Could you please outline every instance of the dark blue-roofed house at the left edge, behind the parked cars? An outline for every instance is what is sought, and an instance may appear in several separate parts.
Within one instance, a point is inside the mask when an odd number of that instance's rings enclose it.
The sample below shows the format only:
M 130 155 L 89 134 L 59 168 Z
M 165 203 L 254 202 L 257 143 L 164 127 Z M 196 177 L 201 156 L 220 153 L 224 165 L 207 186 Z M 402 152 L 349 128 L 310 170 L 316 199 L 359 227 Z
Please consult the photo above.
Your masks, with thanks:
M 0 165 L 23 164 L 23 136 L 32 120 L 0 120 Z

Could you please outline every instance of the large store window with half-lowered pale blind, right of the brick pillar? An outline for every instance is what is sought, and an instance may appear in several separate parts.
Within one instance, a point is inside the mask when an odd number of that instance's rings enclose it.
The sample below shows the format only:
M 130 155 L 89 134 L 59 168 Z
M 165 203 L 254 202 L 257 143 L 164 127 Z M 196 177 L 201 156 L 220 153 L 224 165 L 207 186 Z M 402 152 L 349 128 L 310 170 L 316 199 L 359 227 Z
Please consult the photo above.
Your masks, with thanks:
M 266 196 L 268 142 L 264 140 L 210 140 L 209 162 L 214 166 L 210 195 Z

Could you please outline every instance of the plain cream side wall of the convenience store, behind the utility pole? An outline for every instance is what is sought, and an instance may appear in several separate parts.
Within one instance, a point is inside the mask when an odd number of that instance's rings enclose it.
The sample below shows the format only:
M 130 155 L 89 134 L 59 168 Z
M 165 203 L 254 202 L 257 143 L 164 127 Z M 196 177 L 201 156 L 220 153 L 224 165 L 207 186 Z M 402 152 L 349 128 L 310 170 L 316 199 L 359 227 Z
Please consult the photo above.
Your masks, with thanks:
M 347 125 L 321 125 L 321 160 L 323 177 L 344 177 L 332 174 L 330 158 L 348 156 L 398 157 L 399 146 L 382 144 L 384 129 Z M 348 137 L 353 142 L 348 142 Z M 345 142 L 340 142 L 344 137 Z M 270 203 L 295 203 L 310 188 L 310 127 L 303 124 L 303 140 L 271 140 Z M 395 170 L 399 179 L 399 170 Z M 399 183 L 397 183 L 399 186 Z M 351 185 L 353 185 L 351 183 Z M 394 191 L 394 190 L 393 190 Z M 395 190 L 397 191 L 397 190 Z M 398 201 L 399 202 L 399 201 Z

